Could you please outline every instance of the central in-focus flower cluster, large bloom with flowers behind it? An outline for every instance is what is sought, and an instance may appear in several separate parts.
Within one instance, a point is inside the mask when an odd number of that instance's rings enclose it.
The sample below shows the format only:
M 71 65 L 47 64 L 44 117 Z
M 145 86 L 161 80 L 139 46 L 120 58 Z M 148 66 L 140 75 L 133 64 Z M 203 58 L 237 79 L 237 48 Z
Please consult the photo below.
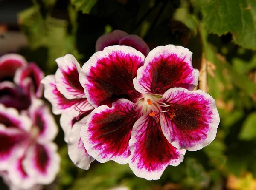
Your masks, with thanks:
M 215 100 L 198 85 L 192 53 L 175 45 L 149 52 L 140 37 L 123 31 L 105 34 L 84 63 L 58 58 L 55 76 L 42 81 L 44 95 L 81 168 L 96 159 L 129 164 L 138 177 L 159 179 L 168 165 L 183 161 L 215 139 Z M 70 147 L 72 146 L 72 147 Z

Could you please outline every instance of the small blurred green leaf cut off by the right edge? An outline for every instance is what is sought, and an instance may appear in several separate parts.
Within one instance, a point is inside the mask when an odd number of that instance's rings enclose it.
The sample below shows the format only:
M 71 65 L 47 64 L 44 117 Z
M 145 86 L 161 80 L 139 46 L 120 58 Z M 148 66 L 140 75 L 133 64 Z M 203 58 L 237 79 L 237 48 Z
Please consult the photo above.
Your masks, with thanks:
M 239 139 L 241 140 L 253 140 L 256 138 L 256 112 L 247 116 L 242 129 L 239 133 Z

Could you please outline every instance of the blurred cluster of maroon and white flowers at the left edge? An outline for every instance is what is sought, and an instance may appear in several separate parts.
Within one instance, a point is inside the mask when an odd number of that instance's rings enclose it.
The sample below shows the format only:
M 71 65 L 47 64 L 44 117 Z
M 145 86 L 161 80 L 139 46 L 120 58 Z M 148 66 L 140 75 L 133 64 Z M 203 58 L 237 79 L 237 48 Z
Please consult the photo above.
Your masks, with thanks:
M 41 189 L 59 170 L 58 127 L 40 99 L 43 77 L 18 54 L 0 57 L 0 175 L 10 189 Z

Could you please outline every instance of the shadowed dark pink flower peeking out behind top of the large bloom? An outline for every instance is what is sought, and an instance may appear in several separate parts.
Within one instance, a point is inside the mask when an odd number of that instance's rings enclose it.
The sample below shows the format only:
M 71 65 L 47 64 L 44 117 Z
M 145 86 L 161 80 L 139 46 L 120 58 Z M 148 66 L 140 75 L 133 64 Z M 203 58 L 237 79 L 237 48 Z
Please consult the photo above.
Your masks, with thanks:
M 135 48 L 143 55 L 147 56 L 149 52 L 148 45 L 137 35 L 128 35 L 121 30 L 114 30 L 109 34 L 104 34 L 98 38 L 95 51 L 102 51 L 105 47 L 112 45 L 126 45 Z

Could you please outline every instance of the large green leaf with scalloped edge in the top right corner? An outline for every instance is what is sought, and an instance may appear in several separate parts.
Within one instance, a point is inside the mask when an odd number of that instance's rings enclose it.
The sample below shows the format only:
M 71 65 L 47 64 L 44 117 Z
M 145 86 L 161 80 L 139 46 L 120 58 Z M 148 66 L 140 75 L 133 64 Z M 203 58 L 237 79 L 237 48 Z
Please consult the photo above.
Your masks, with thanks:
M 255 0 L 205 0 L 201 8 L 209 32 L 231 32 L 234 43 L 256 49 Z

